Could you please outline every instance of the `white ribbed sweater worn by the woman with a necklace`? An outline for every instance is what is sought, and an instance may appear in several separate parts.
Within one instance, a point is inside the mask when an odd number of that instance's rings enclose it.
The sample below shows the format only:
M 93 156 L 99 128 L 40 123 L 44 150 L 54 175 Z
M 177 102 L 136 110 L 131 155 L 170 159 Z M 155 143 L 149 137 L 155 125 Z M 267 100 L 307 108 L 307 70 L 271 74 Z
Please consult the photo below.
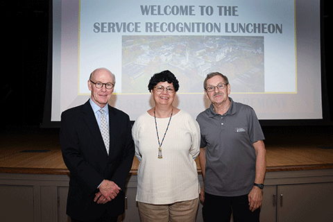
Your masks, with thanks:
M 169 118 L 157 118 L 160 142 Z M 200 185 L 195 158 L 200 152 L 200 128 L 187 112 L 171 118 L 158 159 L 155 120 L 145 112 L 134 123 L 132 135 L 135 155 L 140 161 L 137 176 L 137 201 L 170 204 L 198 198 Z

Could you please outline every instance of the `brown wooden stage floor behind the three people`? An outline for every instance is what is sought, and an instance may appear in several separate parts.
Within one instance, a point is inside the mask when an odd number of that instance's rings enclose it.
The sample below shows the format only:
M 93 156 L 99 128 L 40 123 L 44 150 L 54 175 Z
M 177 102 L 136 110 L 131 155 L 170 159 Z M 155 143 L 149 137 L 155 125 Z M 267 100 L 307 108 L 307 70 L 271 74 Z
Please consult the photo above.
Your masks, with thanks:
M 2 134 L 0 173 L 69 174 L 55 132 Z M 265 144 L 267 171 L 333 169 L 333 134 L 274 135 L 266 137 Z M 135 158 L 130 173 L 137 173 L 138 166 Z

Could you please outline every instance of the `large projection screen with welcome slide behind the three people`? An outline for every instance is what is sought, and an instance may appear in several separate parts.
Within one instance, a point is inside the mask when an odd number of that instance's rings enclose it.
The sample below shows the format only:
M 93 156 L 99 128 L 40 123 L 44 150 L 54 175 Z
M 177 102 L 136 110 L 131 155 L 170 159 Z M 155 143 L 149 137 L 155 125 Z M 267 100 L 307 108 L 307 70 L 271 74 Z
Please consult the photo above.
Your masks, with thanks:
M 203 80 L 228 76 L 230 97 L 261 120 L 322 119 L 320 1 L 53 0 L 51 121 L 89 99 L 110 69 L 110 105 L 135 121 L 153 105 L 148 80 L 169 69 L 174 105 L 194 118 L 210 105 Z

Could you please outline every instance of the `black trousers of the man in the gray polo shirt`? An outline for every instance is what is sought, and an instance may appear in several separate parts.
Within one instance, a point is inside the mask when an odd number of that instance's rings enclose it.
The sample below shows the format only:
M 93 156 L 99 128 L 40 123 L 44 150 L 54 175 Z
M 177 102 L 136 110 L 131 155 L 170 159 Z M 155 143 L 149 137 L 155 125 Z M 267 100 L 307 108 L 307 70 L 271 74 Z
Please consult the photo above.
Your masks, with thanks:
M 234 222 L 258 222 L 260 208 L 254 212 L 249 210 L 248 195 L 225 197 L 214 196 L 205 192 L 205 202 L 203 203 L 203 219 L 205 222 L 230 222 L 231 214 L 234 216 Z

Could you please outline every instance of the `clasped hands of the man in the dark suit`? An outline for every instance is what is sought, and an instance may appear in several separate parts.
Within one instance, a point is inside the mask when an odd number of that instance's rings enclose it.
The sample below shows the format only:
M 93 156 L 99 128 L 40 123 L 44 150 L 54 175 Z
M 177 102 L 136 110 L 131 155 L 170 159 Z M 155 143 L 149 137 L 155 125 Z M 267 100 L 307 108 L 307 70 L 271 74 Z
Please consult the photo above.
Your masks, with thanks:
M 101 199 L 101 196 L 106 198 L 106 200 L 111 201 L 112 199 L 114 199 L 117 196 L 117 194 L 119 194 L 120 190 L 121 190 L 120 187 L 118 187 L 118 185 L 116 185 L 113 181 L 103 180 L 103 182 L 99 186 L 99 193 L 96 194 L 94 201 L 95 202 L 97 201 L 97 203 L 99 201 L 101 203 L 104 203 L 105 200 Z M 99 195 L 99 194 L 101 194 L 101 195 Z M 108 202 L 108 201 L 106 201 L 106 202 Z

